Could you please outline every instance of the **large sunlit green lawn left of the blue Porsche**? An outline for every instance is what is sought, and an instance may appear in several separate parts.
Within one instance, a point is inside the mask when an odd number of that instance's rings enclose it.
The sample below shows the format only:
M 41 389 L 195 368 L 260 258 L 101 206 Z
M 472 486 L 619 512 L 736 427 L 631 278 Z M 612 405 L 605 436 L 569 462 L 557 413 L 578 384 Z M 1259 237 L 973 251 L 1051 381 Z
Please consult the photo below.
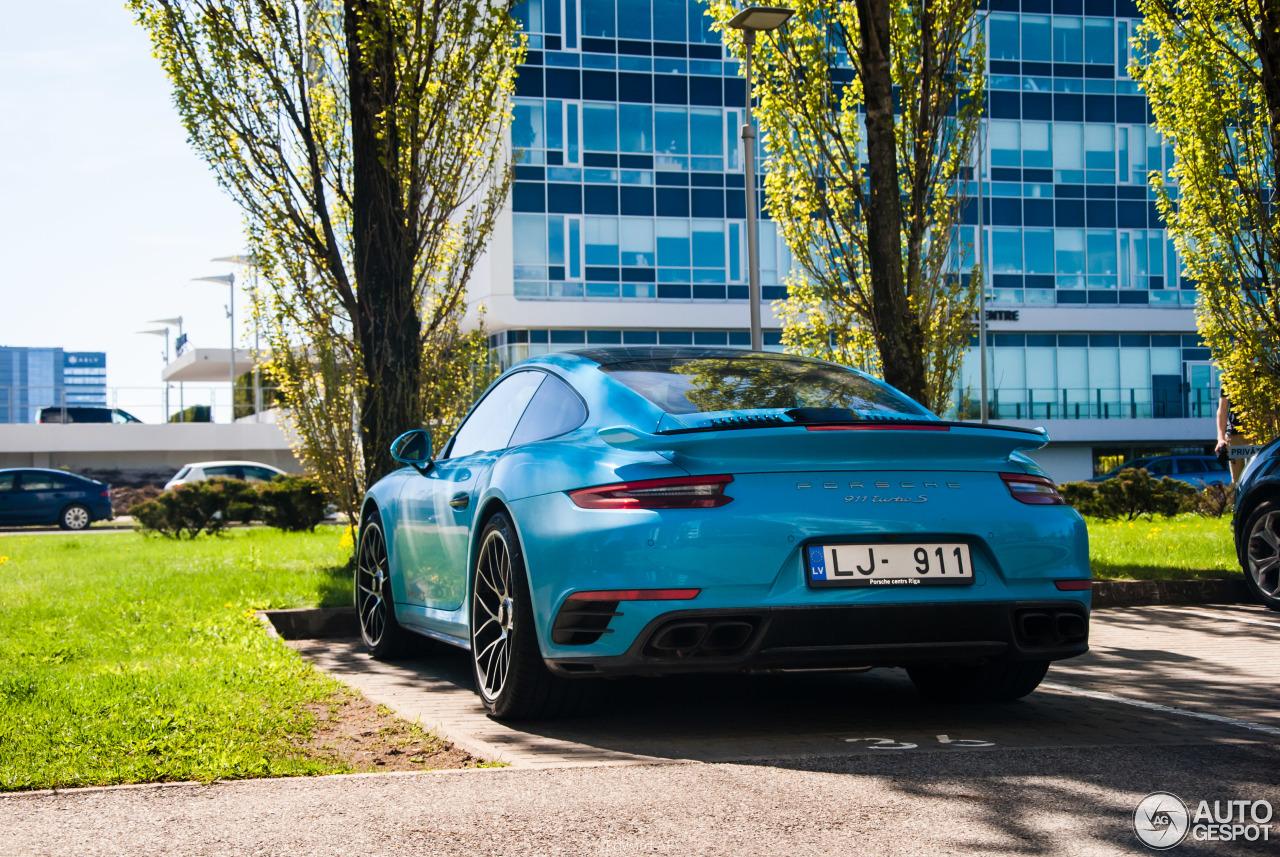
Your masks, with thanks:
M 253 618 L 349 602 L 342 539 L 0 536 L 0 790 L 349 770 L 293 748 L 340 686 Z

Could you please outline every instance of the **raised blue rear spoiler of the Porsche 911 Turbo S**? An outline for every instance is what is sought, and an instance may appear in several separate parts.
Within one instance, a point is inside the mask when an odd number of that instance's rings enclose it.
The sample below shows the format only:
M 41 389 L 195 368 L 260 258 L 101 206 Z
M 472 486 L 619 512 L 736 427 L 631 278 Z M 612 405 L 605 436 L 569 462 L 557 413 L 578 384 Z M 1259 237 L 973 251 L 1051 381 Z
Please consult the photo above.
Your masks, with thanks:
M 1048 443 L 1043 428 L 923 420 L 655 434 L 612 426 L 596 434 L 609 446 L 660 453 L 694 471 L 714 463 L 741 469 L 749 462 L 768 469 L 773 469 L 771 464 L 818 469 L 833 466 L 918 469 L 922 464 L 1000 469 L 1007 467 L 1014 453 Z

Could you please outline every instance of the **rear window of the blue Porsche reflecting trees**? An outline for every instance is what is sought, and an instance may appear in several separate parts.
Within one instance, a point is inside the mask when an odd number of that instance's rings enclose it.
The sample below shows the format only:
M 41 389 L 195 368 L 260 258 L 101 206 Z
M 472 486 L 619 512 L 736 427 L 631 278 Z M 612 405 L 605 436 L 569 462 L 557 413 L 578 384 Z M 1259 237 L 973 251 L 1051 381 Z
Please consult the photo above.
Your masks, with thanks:
M 659 357 L 600 367 L 667 413 L 845 408 L 860 416 L 932 417 L 923 407 L 829 363 L 760 357 Z

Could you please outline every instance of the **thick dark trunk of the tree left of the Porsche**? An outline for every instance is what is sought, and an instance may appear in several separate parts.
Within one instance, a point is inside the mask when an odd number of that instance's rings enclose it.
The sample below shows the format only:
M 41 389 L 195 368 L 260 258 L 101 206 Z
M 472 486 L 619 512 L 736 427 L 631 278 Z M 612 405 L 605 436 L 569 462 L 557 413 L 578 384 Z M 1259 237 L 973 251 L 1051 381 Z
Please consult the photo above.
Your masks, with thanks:
M 422 425 L 421 320 L 402 192 L 396 47 L 379 0 L 344 0 L 352 142 L 352 318 L 365 368 L 360 428 L 371 485 L 398 464 L 390 444 Z M 376 307 L 376 312 L 369 312 Z M 334 418 L 340 418 L 334 414 Z

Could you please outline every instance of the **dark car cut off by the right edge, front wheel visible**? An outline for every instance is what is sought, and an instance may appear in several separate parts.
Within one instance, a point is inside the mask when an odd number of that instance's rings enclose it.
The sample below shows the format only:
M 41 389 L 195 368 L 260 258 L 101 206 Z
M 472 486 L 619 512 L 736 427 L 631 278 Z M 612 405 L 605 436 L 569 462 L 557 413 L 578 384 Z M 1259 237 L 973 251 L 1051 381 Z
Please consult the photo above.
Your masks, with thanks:
M 1244 583 L 1280 610 L 1280 441 L 1266 446 L 1240 475 L 1235 500 L 1235 555 Z

